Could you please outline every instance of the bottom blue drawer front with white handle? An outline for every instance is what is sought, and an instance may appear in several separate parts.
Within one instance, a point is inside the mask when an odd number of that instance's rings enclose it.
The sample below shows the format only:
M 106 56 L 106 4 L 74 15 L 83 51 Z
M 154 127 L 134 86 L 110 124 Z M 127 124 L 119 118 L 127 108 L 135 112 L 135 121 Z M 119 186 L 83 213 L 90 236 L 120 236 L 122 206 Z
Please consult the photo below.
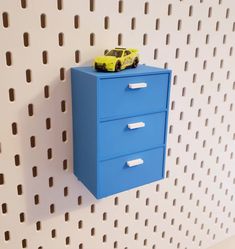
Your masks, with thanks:
M 164 149 L 162 147 L 99 164 L 99 198 L 162 179 Z

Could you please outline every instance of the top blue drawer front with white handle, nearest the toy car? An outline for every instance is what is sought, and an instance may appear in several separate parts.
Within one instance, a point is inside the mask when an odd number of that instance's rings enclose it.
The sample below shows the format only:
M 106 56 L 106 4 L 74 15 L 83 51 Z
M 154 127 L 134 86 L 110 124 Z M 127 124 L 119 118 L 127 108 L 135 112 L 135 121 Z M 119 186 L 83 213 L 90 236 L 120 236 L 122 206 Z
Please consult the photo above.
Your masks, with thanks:
M 101 119 L 139 115 L 167 108 L 169 74 L 101 79 Z

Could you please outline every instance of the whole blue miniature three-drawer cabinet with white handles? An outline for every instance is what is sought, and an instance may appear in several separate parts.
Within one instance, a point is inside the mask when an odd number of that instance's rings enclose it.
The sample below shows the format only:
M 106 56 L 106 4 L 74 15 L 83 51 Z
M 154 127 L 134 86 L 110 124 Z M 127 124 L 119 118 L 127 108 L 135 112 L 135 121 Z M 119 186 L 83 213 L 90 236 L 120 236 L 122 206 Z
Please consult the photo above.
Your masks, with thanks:
M 74 173 L 96 198 L 164 178 L 171 71 L 72 68 Z

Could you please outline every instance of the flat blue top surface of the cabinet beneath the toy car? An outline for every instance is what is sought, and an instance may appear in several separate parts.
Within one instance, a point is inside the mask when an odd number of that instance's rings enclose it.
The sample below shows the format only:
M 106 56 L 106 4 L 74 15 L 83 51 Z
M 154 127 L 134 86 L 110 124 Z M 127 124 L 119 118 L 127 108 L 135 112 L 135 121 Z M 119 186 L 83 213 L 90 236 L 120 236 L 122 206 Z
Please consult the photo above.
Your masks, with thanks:
M 149 75 L 149 74 L 162 74 L 170 73 L 171 70 L 139 65 L 137 68 L 128 68 L 120 72 L 97 72 L 93 67 L 73 67 L 72 70 L 87 73 L 97 78 L 117 78 L 117 77 L 128 77 L 137 75 Z

